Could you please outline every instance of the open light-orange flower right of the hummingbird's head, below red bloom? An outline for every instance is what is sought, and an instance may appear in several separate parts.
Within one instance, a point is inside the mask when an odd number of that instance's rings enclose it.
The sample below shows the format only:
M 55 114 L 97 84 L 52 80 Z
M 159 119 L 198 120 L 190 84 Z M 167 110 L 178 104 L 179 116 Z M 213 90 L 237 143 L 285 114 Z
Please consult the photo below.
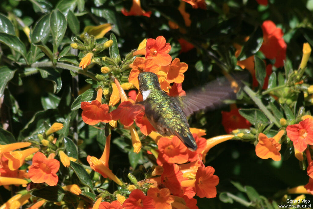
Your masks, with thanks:
M 175 58 L 170 65 L 161 67 L 161 71 L 167 73 L 166 80 L 169 83 L 182 83 L 185 78 L 183 73 L 186 72 L 187 69 L 188 65 L 184 62 L 181 63 L 178 58 Z

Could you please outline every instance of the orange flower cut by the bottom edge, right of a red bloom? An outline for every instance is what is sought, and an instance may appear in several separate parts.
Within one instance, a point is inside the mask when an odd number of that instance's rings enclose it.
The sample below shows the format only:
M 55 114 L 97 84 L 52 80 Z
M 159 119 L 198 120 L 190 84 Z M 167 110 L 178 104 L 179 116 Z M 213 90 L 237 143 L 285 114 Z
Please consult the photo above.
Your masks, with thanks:
M 159 190 L 158 188 L 150 188 L 147 191 L 147 196 L 153 198 L 155 208 L 171 209 L 171 203 L 174 202 L 174 198 L 171 192 L 167 188 Z

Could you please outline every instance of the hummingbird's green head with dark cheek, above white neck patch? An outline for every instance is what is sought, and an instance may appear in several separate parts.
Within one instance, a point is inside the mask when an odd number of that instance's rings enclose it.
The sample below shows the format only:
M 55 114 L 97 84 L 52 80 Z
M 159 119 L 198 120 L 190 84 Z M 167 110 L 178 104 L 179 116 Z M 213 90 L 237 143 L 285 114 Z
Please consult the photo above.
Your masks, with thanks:
M 145 91 L 153 91 L 154 89 L 160 89 L 160 83 L 157 75 L 153 72 L 142 72 L 138 75 L 139 90 L 141 94 Z

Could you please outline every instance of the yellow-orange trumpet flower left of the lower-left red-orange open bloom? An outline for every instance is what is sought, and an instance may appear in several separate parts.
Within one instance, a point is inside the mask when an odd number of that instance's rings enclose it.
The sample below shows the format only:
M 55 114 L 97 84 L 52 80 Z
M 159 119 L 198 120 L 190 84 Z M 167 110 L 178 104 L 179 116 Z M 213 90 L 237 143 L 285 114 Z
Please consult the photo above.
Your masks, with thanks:
M 8 159 L 8 168 L 10 170 L 17 170 L 21 167 L 28 155 L 37 152 L 38 148 L 28 148 L 23 151 L 7 151 L 3 153 L 3 156 Z

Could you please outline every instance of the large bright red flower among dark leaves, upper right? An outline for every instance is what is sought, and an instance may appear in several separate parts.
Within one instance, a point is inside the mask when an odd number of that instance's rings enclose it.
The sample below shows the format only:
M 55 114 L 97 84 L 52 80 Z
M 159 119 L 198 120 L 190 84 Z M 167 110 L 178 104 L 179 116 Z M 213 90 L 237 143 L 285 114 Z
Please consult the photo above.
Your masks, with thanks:
M 271 20 L 266 20 L 262 24 L 263 30 L 263 44 L 260 50 L 263 52 L 266 58 L 276 59 L 274 66 L 284 66 L 284 60 L 286 59 L 286 48 L 283 37 L 283 31 L 280 28 L 276 28 L 275 23 Z

